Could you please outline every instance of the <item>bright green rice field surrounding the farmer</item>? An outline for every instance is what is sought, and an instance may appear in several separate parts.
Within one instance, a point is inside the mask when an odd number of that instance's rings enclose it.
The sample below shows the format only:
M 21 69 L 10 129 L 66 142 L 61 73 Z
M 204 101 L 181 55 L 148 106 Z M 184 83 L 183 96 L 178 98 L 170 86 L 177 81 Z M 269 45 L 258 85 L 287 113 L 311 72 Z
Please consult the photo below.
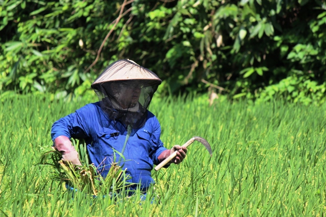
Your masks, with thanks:
M 94 101 L 96 98 L 94 97 Z M 166 147 L 204 137 L 180 165 L 152 171 L 145 201 L 71 199 L 38 165 L 54 121 L 85 105 L 17 96 L 0 100 L 0 216 L 323 216 L 326 213 L 326 106 L 282 100 L 255 105 L 202 98 L 155 99 Z M 155 198 L 151 204 L 152 198 Z

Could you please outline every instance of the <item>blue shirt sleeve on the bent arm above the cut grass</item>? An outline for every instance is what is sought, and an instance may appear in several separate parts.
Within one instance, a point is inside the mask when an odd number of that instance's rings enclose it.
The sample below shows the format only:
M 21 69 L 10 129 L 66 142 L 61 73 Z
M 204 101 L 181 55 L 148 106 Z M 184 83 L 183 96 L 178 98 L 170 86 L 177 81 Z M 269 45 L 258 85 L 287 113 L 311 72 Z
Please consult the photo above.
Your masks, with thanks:
M 65 117 L 60 118 L 53 123 L 51 128 L 51 138 L 54 141 L 58 136 L 66 136 L 69 139 L 84 139 L 89 135 L 87 113 L 90 111 L 89 106 L 76 110 Z

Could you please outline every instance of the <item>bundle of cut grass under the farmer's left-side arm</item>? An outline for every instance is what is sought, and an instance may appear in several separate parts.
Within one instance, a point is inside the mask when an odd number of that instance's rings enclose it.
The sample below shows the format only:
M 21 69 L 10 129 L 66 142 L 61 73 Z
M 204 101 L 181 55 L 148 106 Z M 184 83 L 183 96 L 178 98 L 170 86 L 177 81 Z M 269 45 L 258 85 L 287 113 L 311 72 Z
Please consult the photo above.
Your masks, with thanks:
M 86 148 L 79 149 L 80 161 L 84 162 L 82 166 L 75 166 L 71 163 L 63 162 L 62 154 L 51 148 L 41 156 L 41 164 L 49 165 L 54 170 L 53 179 L 68 184 L 69 187 L 82 191 L 85 194 L 94 196 L 110 195 L 121 192 L 132 183 L 127 180 L 130 177 L 125 170 L 117 164 L 113 163 L 107 176 L 103 178 L 93 164 L 88 164 Z

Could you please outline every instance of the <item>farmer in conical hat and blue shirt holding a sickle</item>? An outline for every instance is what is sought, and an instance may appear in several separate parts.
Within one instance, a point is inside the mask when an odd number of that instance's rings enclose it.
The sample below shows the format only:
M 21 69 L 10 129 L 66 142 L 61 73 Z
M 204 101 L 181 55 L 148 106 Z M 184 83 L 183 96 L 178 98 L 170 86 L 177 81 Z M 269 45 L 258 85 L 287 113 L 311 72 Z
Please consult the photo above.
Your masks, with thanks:
M 99 102 L 88 104 L 52 125 L 54 147 L 62 160 L 81 165 L 70 138 L 83 139 L 90 163 L 105 177 L 114 159 L 132 183 L 143 192 L 154 183 L 153 164 L 157 165 L 178 150 L 171 163 L 179 164 L 187 149 L 175 145 L 167 149 L 160 140 L 157 118 L 147 110 L 161 80 L 152 71 L 134 61 L 121 59 L 108 66 L 92 84 Z M 125 161 L 115 158 L 123 154 Z M 137 188 L 133 185 L 132 189 Z

